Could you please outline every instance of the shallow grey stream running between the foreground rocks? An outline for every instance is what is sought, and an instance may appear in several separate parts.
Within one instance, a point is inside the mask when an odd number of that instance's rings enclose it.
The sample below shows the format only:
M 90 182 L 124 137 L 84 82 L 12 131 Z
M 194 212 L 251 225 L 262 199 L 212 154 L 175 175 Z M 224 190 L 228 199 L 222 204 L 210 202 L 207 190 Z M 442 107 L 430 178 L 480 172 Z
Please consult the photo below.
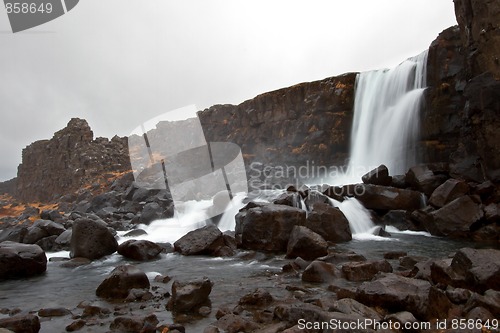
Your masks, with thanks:
M 354 251 L 367 259 L 381 259 L 389 251 L 406 251 L 408 255 L 432 258 L 447 257 L 450 253 L 465 246 L 477 247 L 477 244 L 457 242 L 421 234 L 394 233 L 392 238 L 365 237 L 335 246 L 337 251 Z M 66 253 L 49 254 L 49 256 L 67 255 Z M 283 256 L 266 256 L 262 254 L 239 253 L 233 258 L 209 258 L 201 256 L 181 256 L 178 254 L 162 254 L 158 260 L 150 262 L 134 262 L 121 255 L 114 254 L 89 265 L 77 268 L 61 267 L 60 262 L 50 261 L 47 272 L 41 276 L 0 282 L 0 308 L 20 308 L 23 311 L 38 311 L 42 308 L 64 307 L 74 314 L 81 313 L 76 306 L 82 301 L 102 304 L 112 312 L 117 304 L 107 303 L 95 295 L 95 290 L 102 280 L 118 265 L 133 264 L 146 272 L 152 286 L 160 290 L 170 291 L 170 284 L 153 282 L 157 274 L 168 275 L 173 279 L 190 280 L 207 276 L 214 287 L 210 295 L 212 313 L 206 318 L 183 323 L 187 332 L 201 332 L 209 323 L 215 321 L 216 310 L 224 305 L 233 307 L 245 294 L 260 287 L 265 288 L 274 297 L 290 296 L 285 286 L 302 284 L 298 278 L 290 278 L 279 274 L 281 267 L 289 262 Z M 396 270 L 397 261 L 391 261 Z M 316 288 L 303 284 L 305 288 Z M 144 309 L 138 314 L 154 311 L 160 323 L 172 323 L 171 313 L 165 310 L 168 299 L 160 302 L 157 309 Z M 119 305 L 119 304 L 118 304 Z M 123 305 L 123 304 L 122 304 Z M 80 312 L 79 312 L 80 311 Z M 5 316 L 5 315 L 1 315 Z M 182 319 L 182 318 L 181 318 Z M 69 316 L 41 318 L 40 332 L 64 332 L 66 325 L 73 320 Z M 86 326 L 81 332 L 106 332 L 109 326 Z

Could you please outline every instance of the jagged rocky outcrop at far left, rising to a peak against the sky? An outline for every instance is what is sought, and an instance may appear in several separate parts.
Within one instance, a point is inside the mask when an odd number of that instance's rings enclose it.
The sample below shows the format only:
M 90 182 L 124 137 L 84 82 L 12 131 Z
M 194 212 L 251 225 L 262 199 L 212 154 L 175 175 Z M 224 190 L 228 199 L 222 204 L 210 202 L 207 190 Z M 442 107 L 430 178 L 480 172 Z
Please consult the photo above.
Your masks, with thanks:
M 93 139 L 85 120 L 73 118 L 52 139 L 23 150 L 16 197 L 48 202 L 96 182 L 103 174 L 130 170 L 127 139 Z

